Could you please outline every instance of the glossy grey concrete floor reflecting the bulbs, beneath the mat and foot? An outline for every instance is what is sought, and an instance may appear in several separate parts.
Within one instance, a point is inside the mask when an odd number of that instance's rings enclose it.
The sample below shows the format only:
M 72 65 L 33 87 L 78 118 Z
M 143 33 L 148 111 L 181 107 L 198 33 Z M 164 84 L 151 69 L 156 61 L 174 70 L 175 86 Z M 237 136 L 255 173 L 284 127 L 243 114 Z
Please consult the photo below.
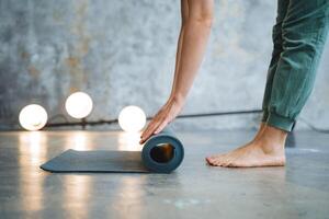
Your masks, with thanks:
M 52 174 L 38 166 L 66 149 L 138 150 L 138 135 L 1 132 L 0 218 L 329 218 L 329 135 L 296 132 L 285 168 L 205 164 L 252 135 L 181 132 L 172 174 Z

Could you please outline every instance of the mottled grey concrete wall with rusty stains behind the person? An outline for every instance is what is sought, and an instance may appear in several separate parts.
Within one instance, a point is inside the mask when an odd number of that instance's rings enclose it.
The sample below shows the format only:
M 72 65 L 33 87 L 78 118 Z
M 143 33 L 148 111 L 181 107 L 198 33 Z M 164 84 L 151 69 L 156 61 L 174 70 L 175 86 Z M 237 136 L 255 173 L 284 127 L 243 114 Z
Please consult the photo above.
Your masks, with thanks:
M 170 91 L 179 2 L 1 0 L 0 128 L 16 128 L 29 103 L 42 104 L 49 116 L 66 115 L 65 99 L 78 90 L 94 101 L 89 120 L 115 118 L 127 104 L 154 114 Z M 275 10 L 273 0 L 216 0 L 207 54 L 183 114 L 260 108 Z M 327 46 L 300 116 L 319 128 L 329 128 L 328 58 Z M 307 128 L 303 120 L 298 127 Z M 251 128 L 258 122 L 258 115 L 241 115 L 180 119 L 175 126 Z

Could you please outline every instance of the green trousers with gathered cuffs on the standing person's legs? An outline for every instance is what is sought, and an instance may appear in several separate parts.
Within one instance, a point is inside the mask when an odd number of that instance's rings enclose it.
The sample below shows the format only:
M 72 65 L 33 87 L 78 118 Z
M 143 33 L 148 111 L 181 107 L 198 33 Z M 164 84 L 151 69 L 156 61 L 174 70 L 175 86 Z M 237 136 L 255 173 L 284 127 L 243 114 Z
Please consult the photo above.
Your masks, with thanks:
M 329 0 L 277 1 L 263 123 L 291 131 L 313 90 L 328 28 Z

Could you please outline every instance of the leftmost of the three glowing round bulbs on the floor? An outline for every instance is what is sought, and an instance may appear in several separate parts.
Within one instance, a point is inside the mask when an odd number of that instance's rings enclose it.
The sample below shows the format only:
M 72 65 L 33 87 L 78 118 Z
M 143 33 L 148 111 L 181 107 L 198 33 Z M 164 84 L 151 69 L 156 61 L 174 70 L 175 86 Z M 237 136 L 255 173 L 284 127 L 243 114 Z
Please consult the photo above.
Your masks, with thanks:
M 39 130 L 46 125 L 48 115 L 41 105 L 30 104 L 21 110 L 19 119 L 24 129 Z

